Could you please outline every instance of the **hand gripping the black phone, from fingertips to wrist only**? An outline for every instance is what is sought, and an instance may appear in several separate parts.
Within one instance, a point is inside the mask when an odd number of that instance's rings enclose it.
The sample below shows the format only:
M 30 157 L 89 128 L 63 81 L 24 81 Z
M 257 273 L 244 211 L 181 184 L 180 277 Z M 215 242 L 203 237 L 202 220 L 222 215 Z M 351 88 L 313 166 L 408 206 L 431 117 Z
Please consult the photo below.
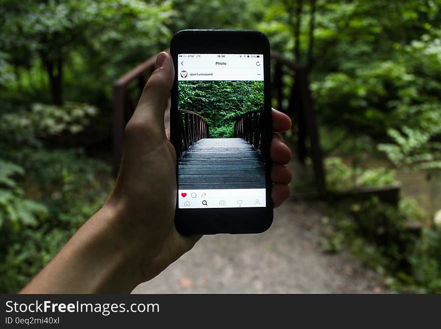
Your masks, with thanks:
M 142 279 L 149 280 L 193 247 L 200 236 L 182 236 L 174 227 L 176 200 L 176 154 L 164 129 L 169 117 L 169 96 L 174 67 L 169 54 L 160 53 L 156 70 L 142 92 L 136 110 L 125 129 L 121 169 L 108 203 L 122 209 L 122 217 L 133 229 L 142 261 Z M 166 122 L 166 126 L 168 126 Z M 272 198 L 279 206 L 289 196 L 291 172 L 284 165 L 290 149 L 277 132 L 290 129 L 291 120 L 273 109 L 271 144 L 274 161 Z

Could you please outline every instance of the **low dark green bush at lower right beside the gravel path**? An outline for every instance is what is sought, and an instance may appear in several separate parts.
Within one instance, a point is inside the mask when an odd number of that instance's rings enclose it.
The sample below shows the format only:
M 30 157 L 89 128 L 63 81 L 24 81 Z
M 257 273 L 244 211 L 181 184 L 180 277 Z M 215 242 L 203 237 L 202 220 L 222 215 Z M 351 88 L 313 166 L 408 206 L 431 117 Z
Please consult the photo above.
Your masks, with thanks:
M 441 293 L 441 230 L 409 230 L 409 219 L 421 221 L 424 212 L 411 199 L 398 209 L 373 197 L 362 202 L 346 201 L 328 209 L 322 220 L 328 252 L 344 245 L 362 262 L 387 275 L 391 289 L 402 292 Z

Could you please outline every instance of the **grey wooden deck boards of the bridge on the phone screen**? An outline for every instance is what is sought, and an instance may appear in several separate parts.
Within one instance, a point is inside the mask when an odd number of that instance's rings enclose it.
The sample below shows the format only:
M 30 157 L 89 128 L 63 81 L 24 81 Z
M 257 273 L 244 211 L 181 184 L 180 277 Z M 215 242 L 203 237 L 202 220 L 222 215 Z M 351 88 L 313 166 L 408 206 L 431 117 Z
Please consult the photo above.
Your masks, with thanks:
M 265 165 L 241 138 L 204 138 L 179 159 L 179 189 L 265 188 Z

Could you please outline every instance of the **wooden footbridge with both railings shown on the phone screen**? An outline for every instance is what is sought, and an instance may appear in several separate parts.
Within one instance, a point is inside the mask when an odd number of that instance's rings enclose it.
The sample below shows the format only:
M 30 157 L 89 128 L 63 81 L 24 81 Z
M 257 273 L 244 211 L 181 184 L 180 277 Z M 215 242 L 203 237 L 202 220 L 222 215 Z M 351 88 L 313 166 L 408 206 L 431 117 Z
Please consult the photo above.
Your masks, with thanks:
M 179 111 L 179 114 L 180 189 L 265 188 L 261 111 L 251 111 L 238 118 L 234 138 L 209 138 L 208 125 L 199 114 L 192 111 Z

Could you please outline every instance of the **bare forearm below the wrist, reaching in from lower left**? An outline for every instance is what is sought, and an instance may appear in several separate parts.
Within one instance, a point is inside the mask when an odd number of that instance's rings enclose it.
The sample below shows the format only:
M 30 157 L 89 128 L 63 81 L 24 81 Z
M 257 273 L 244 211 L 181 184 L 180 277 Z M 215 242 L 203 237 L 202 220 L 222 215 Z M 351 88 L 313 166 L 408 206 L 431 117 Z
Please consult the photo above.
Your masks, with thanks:
M 122 212 L 100 209 L 21 293 L 130 292 L 141 279 L 141 261 Z

